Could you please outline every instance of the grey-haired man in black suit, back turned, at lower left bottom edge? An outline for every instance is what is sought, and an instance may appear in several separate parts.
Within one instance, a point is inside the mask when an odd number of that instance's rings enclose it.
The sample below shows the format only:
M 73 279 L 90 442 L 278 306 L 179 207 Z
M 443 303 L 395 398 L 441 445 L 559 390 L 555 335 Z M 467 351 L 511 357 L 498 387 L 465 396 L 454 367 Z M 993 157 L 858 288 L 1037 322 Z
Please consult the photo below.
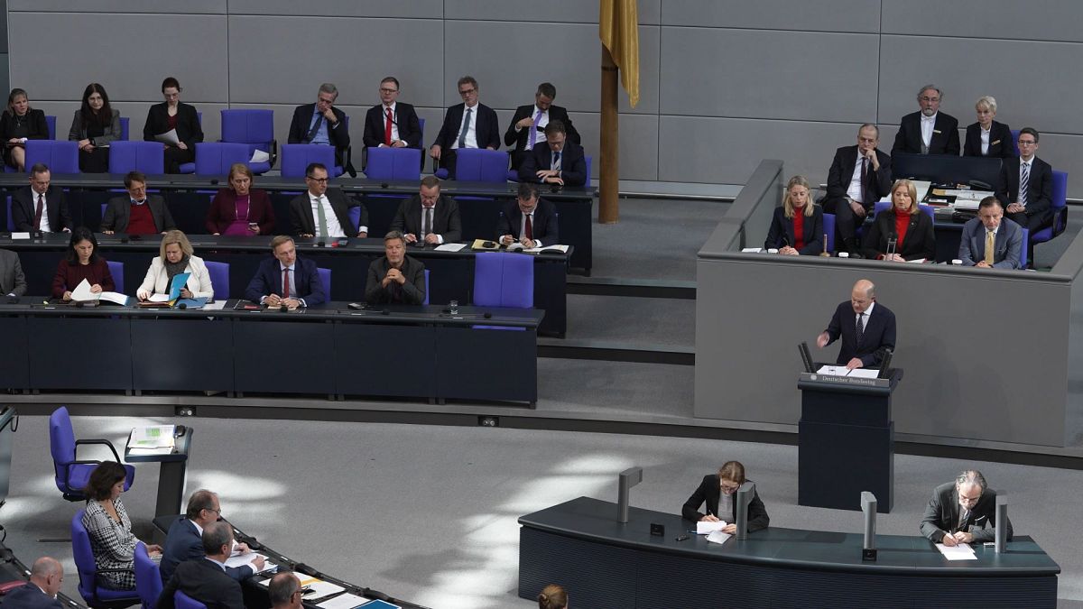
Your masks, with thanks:
M 240 583 L 225 572 L 225 560 L 233 549 L 233 527 L 229 522 L 209 522 L 201 535 L 205 556 L 177 566 L 161 588 L 157 609 L 174 609 L 178 591 L 207 606 L 207 609 L 244 609 Z

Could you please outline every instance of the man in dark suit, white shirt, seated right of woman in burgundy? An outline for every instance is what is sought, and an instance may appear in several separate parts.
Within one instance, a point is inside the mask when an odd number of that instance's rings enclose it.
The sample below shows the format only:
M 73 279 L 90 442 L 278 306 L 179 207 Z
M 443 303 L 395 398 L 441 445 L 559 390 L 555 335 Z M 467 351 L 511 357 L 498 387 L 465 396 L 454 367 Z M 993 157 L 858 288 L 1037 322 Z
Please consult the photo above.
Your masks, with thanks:
M 327 187 L 327 168 L 321 163 L 310 163 L 304 169 L 304 183 L 309 190 L 289 202 L 289 221 L 299 237 L 358 237 L 368 236 L 368 211 L 341 189 Z M 350 208 L 361 207 L 361 225 L 350 220 Z

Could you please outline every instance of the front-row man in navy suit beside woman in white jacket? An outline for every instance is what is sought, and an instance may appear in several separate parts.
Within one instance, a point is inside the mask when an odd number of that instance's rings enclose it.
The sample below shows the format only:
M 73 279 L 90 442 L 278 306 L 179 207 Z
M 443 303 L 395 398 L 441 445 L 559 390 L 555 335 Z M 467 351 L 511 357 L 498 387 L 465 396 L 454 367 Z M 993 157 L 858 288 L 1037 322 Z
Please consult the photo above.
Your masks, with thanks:
M 245 288 L 246 300 L 268 307 L 285 304 L 290 310 L 327 301 L 316 263 L 297 255 L 293 237 L 278 235 L 271 239 L 271 251 L 274 258 L 260 262 Z

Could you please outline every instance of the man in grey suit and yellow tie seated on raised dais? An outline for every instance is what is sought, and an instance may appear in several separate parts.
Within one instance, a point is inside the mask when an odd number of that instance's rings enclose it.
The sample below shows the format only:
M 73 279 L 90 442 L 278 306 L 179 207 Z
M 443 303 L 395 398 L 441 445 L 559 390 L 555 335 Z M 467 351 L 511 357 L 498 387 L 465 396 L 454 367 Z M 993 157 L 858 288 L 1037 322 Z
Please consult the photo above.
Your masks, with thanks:
M 964 267 L 980 269 L 1018 269 L 1022 251 L 1022 229 L 1015 222 L 1003 222 L 1004 207 L 994 196 L 978 204 L 978 217 L 963 224 L 958 242 L 958 258 Z M 990 248 L 989 245 L 993 247 Z

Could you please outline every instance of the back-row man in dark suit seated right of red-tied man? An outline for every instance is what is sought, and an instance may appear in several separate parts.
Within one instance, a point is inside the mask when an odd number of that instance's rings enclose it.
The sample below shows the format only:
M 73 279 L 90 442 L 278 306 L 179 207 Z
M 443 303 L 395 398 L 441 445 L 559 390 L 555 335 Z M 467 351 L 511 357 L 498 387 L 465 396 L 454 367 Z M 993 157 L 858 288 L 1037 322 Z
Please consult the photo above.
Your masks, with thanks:
M 478 102 L 481 88 L 472 76 L 464 76 L 458 82 L 461 104 L 447 108 L 444 124 L 440 128 L 429 156 L 440 159 L 440 166 L 447 169 L 447 177 L 455 179 L 455 151 L 458 148 L 500 147 L 500 125 L 496 112 Z

